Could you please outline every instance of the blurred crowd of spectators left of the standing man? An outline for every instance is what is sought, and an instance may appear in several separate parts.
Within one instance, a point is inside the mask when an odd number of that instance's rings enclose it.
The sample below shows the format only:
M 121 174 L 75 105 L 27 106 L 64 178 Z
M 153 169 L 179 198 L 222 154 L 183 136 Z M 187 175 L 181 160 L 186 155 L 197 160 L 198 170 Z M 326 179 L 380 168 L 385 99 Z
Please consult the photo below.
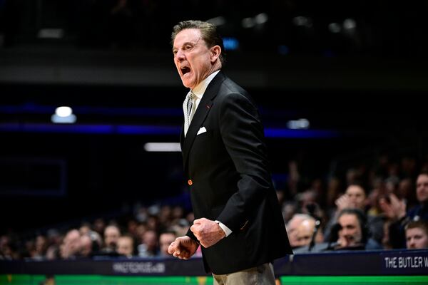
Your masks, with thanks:
M 193 214 L 180 206 L 136 206 L 126 217 L 99 217 L 78 227 L 41 230 L 29 239 L 4 234 L 0 237 L 0 259 L 165 257 L 170 242 L 185 234 L 191 221 Z

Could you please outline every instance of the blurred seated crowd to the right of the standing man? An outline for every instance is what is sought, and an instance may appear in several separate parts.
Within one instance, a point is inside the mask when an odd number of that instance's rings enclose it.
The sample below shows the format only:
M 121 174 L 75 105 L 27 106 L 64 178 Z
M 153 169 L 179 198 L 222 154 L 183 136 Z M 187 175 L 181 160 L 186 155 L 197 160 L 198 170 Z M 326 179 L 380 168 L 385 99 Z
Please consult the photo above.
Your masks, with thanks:
M 295 252 L 427 248 L 427 163 L 408 155 L 373 162 L 349 167 L 342 181 L 332 176 L 327 189 L 314 181 L 297 199 L 285 200 Z

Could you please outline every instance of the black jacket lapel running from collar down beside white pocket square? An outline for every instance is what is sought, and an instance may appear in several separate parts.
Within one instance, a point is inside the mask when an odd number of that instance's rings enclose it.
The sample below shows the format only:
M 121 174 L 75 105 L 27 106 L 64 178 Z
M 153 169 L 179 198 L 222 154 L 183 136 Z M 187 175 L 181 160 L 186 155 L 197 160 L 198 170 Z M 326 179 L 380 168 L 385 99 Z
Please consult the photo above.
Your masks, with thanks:
M 213 81 L 210 82 L 205 93 L 203 94 L 202 100 L 198 105 L 198 108 L 195 111 L 195 115 L 193 115 L 192 122 L 190 123 L 189 129 L 182 144 L 182 152 L 183 152 L 183 165 L 185 166 L 188 161 L 188 155 L 190 152 L 190 148 L 193 145 L 193 141 L 196 138 L 196 134 L 200 126 L 203 124 L 203 121 L 207 117 L 210 112 L 211 107 L 213 106 L 213 100 L 215 95 L 218 93 L 218 88 L 220 84 L 223 82 L 224 76 L 221 71 L 213 78 Z

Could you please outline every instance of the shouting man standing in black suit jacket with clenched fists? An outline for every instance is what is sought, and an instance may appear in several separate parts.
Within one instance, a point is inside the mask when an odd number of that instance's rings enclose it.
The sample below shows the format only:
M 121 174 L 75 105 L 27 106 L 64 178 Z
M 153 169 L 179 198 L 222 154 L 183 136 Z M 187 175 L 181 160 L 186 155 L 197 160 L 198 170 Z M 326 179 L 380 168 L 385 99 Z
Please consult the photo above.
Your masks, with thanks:
M 190 88 L 180 142 L 195 221 L 168 252 L 188 259 L 201 245 L 215 284 L 275 284 L 271 262 L 292 251 L 258 110 L 220 71 L 223 41 L 213 24 L 180 22 L 172 41 L 178 74 Z

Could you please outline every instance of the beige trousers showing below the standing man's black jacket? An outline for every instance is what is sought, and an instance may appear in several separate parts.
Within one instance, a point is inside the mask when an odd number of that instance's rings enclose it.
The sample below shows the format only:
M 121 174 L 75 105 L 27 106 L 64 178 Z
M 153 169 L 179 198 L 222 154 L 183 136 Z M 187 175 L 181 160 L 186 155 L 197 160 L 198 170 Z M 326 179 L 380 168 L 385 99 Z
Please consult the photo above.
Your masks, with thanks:
M 231 274 L 213 274 L 214 285 L 275 285 L 273 265 L 265 263 Z

